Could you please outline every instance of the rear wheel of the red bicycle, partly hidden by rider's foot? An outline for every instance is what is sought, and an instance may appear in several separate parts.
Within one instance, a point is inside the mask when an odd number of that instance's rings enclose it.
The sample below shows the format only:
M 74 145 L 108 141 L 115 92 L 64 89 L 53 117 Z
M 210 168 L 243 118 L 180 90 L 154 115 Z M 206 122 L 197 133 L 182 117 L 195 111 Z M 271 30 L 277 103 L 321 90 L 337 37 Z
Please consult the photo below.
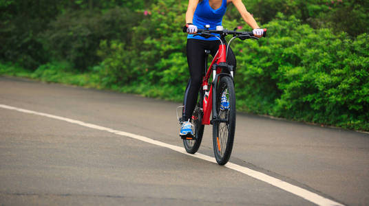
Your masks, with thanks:
M 183 139 L 184 149 L 190 154 L 195 154 L 198 151 L 202 141 L 202 135 L 204 135 L 204 124 L 202 124 L 202 116 L 204 115 L 204 113 L 201 109 L 203 95 L 201 91 L 199 92 L 199 94 L 199 101 L 196 104 L 196 107 L 193 110 L 193 115 L 191 117 L 191 124 L 193 124 L 193 136 L 195 137 L 195 139 Z

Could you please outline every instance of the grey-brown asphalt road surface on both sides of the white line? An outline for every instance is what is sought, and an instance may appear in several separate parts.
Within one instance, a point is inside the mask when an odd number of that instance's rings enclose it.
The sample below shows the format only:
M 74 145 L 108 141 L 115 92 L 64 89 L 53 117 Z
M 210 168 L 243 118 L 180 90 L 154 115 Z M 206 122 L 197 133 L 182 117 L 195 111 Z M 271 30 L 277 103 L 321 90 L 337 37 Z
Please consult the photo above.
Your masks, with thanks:
M 0 77 L 0 104 L 181 146 L 178 103 Z M 199 153 L 213 157 L 211 126 Z M 369 135 L 238 113 L 231 163 L 369 205 Z M 0 205 L 314 205 L 154 144 L 0 107 Z

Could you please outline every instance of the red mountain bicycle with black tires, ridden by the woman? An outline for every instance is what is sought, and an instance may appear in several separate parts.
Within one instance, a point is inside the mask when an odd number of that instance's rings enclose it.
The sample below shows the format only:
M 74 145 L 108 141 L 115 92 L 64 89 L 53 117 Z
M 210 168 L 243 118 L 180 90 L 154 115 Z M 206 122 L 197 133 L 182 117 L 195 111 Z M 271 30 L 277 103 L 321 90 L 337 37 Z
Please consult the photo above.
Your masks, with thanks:
M 194 154 L 198 151 L 204 134 L 204 125 L 213 125 L 213 150 L 215 159 L 220 165 L 229 161 L 233 148 L 233 139 L 235 136 L 235 87 L 233 82 L 233 66 L 226 63 L 229 45 L 235 38 L 259 39 L 253 35 L 253 32 L 237 32 L 236 30 L 223 30 L 217 27 L 217 30 L 199 29 L 198 34 L 204 37 L 216 36 L 220 40 L 217 54 L 215 54 L 211 64 L 207 67 L 207 57 L 210 51 L 205 50 L 205 71 L 202 79 L 202 87 L 199 91 L 199 100 L 193 111 L 191 124 L 193 124 L 193 136 L 195 138 L 183 139 L 184 148 L 187 152 Z M 233 38 L 226 43 L 225 37 L 233 35 Z M 266 29 L 264 29 L 264 36 Z M 209 69 L 207 69 L 209 68 Z M 213 74 L 211 76 L 211 73 Z M 209 88 L 210 86 L 210 88 Z M 226 98 L 228 105 L 223 106 L 222 98 Z M 212 118 L 210 119 L 211 113 Z

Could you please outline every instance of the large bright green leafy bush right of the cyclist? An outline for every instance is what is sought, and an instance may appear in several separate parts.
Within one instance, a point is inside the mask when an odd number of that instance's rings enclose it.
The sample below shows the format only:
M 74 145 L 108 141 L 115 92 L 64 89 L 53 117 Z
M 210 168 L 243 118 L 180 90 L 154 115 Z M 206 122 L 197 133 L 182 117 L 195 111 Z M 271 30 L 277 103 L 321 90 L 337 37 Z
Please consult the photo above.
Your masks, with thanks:
M 240 65 L 236 87 L 246 111 L 288 119 L 368 128 L 368 34 L 313 30 L 293 16 L 271 21 L 268 38 L 236 45 Z M 240 71 L 241 70 L 241 71 Z

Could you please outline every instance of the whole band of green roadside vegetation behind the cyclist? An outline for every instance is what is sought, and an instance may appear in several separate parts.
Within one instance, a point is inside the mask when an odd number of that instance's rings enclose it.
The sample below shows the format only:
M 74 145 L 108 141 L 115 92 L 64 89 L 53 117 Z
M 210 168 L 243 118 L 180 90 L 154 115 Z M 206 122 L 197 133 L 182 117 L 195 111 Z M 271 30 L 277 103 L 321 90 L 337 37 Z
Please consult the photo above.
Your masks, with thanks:
M 369 130 L 369 2 L 244 0 L 238 111 Z M 187 0 L 0 0 L 0 75 L 182 101 Z M 251 30 L 231 5 L 224 27 Z

